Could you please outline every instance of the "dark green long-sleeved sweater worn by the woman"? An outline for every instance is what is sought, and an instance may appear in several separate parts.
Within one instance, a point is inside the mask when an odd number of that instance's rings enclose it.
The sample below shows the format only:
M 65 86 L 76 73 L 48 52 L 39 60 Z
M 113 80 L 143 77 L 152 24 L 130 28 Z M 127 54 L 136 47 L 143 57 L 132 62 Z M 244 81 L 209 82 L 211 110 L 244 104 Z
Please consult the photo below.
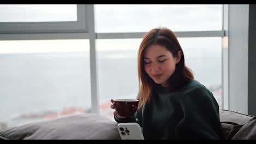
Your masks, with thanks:
M 218 103 L 205 86 L 193 80 L 175 92 L 154 89 L 134 117 L 115 121 L 138 123 L 145 139 L 224 139 Z

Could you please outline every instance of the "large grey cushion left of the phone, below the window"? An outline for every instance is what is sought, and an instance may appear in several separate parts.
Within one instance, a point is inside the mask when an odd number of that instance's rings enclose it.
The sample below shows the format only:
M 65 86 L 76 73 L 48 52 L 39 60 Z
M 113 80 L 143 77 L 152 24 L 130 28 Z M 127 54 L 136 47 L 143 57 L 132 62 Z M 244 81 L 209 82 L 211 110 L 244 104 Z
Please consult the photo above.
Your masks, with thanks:
M 9 128 L 0 131 L 0 139 L 120 140 L 117 125 L 105 116 L 87 113 Z

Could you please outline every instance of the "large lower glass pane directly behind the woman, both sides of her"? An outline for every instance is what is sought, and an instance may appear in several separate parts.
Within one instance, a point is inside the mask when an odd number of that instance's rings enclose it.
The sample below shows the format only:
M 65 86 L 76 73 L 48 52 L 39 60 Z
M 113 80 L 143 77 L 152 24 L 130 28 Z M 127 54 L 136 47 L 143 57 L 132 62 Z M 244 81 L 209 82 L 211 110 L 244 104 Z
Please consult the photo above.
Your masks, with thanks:
M 203 43 L 202 43 L 203 41 Z M 185 63 L 222 106 L 221 38 L 179 38 Z M 141 39 L 97 40 L 100 113 L 113 119 L 110 99 L 136 98 L 137 51 Z M 114 120 L 113 120 L 114 121 Z

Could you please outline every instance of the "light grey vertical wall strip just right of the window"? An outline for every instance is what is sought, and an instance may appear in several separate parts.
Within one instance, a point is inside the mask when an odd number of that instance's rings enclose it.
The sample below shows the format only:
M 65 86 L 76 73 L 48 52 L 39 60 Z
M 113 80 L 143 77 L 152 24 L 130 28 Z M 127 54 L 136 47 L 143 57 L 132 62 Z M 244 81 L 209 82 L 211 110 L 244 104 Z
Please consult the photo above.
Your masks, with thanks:
M 248 114 L 248 4 L 229 5 L 229 109 Z

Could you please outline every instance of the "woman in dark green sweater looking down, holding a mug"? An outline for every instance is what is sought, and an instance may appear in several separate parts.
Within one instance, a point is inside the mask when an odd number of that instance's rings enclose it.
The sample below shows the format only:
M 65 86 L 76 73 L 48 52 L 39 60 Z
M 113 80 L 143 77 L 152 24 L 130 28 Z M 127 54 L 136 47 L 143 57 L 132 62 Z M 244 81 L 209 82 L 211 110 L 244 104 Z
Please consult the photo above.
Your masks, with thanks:
M 121 117 L 115 111 L 115 121 L 138 123 L 145 139 L 224 139 L 218 103 L 194 80 L 170 29 L 152 29 L 144 36 L 138 51 L 138 76 L 135 116 Z

